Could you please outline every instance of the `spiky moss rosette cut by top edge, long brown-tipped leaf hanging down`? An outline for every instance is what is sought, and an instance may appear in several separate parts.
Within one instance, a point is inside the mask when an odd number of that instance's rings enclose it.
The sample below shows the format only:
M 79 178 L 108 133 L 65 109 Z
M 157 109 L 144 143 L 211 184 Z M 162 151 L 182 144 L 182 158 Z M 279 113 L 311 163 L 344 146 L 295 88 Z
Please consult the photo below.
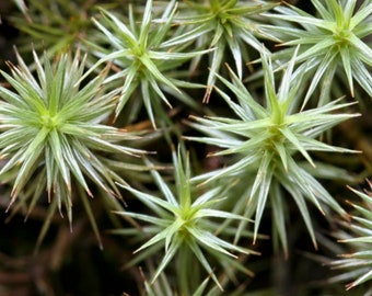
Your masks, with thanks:
M 205 102 L 208 102 L 216 82 L 213 73 L 219 72 L 221 65 L 228 61 L 226 48 L 233 57 L 237 76 L 242 78 L 243 64 L 251 59 L 247 46 L 259 53 L 263 47 L 258 38 L 276 39 L 271 34 L 265 34 L 259 30 L 259 24 L 263 22 L 259 14 L 276 5 L 278 3 L 237 0 L 186 0 L 182 2 L 181 13 L 176 21 L 182 25 L 191 25 L 193 30 L 200 34 L 196 41 L 197 46 L 214 48 L 209 54 L 211 71 L 207 80 Z M 197 68 L 200 56 L 197 56 L 191 68 Z

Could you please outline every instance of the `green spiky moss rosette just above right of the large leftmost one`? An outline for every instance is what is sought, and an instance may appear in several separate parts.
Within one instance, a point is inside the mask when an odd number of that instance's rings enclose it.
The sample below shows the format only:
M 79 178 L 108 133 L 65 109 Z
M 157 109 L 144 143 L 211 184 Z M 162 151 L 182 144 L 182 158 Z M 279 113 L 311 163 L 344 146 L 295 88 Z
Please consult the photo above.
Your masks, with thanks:
M 155 19 L 153 1 L 150 0 L 147 1 L 141 21 L 136 20 L 131 5 L 128 20 L 105 9 L 101 9 L 102 19 L 93 19 L 94 24 L 103 33 L 101 43 L 97 44 L 96 41 L 90 43 L 90 50 L 100 58 L 95 67 L 113 62 L 116 72 L 105 82 L 115 82 L 114 88 L 121 91 L 115 111 L 116 116 L 131 96 L 135 96 L 136 103 L 131 106 L 130 116 L 136 119 L 140 105 L 143 104 L 154 127 L 156 119 L 163 125 L 170 122 L 162 105 L 165 103 L 172 107 L 165 93 L 172 94 L 188 106 L 198 106 L 190 96 L 182 92 L 181 88 L 204 86 L 177 79 L 176 69 L 185 61 L 208 50 L 185 52 L 198 33 L 185 31 L 183 27 L 174 31 L 173 19 L 176 11 L 176 1 L 170 1 L 159 19 Z M 136 90 L 140 93 L 135 93 Z

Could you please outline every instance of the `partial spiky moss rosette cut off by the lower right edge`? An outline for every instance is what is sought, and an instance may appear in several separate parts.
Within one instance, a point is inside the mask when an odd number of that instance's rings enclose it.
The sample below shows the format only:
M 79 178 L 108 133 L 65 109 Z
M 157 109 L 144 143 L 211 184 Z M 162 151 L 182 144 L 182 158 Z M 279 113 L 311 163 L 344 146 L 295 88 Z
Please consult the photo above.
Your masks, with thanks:
M 370 187 L 372 183 L 369 182 Z M 339 276 L 338 281 L 352 281 L 346 285 L 346 289 L 351 289 L 356 286 L 372 281 L 372 197 L 371 192 L 361 192 L 354 189 L 350 190 L 356 193 L 362 201 L 351 203 L 354 213 L 351 215 L 351 223 L 344 223 L 344 229 L 348 231 L 347 238 L 339 241 L 347 243 L 350 247 L 351 253 L 342 254 L 339 260 L 332 262 L 329 265 L 333 269 L 346 270 Z M 335 280 L 334 278 L 334 280 Z M 335 282 L 335 281 L 333 281 Z M 372 288 L 368 288 L 364 295 L 371 295 Z

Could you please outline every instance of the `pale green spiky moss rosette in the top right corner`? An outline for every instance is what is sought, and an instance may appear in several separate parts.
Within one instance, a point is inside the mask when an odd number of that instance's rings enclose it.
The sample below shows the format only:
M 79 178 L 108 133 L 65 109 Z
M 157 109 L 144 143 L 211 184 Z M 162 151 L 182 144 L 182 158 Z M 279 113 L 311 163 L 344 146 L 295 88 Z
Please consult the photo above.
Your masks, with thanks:
M 328 102 L 329 93 L 335 90 L 334 78 L 342 79 L 342 76 L 346 77 L 345 83 L 349 86 L 352 96 L 354 81 L 372 96 L 372 49 L 368 43 L 368 37 L 372 34 L 372 1 L 361 1 L 358 10 L 357 0 L 311 2 L 316 9 L 316 15 L 294 5 L 278 7 L 278 13 L 265 14 L 300 26 L 276 24 L 266 27 L 282 39 L 280 46 L 290 47 L 289 50 L 280 50 L 278 57 L 282 57 L 283 53 L 284 56 L 290 56 L 294 47 L 301 45 L 297 62 L 307 61 L 303 67 L 309 69 L 311 80 L 303 104 L 310 100 L 316 88 L 321 90 L 318 104 Z

